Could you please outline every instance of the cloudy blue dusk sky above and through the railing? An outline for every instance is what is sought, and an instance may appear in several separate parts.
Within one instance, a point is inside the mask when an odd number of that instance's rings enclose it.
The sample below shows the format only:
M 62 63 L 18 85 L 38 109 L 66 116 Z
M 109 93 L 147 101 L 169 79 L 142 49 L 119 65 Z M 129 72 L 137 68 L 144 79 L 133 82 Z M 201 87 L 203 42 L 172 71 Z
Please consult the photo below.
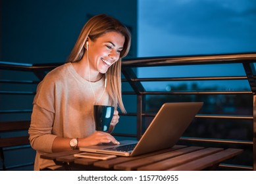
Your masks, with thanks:
M 256 52 L 255 0 L 138 0 L 138 57 Z M 242 64 L 138 69 L 139 78 L 243 76 Z M 172 83 L 180 85 L 182 82 Z M 143 83 L 165 90 L 170 83 Z M 244 81 L 199 85 L 248 89 Z

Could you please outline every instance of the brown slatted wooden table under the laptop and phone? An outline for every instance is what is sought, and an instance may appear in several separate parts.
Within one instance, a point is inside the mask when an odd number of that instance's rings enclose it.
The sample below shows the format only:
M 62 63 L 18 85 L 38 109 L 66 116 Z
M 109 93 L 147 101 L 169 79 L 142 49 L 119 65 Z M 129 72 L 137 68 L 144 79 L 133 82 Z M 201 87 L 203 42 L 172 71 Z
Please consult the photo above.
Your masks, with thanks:
M 41 158 L 54 160 L 61 166 L 80 170 L 215 170 L 220 162 L 233 158 L 242 149 L 221 149 L 186 147 L 175 145 L 170 149 L 159 150 L 134 157 L 118 156 L 111 160 L 76 158 L 79 150 L 43 154 Z

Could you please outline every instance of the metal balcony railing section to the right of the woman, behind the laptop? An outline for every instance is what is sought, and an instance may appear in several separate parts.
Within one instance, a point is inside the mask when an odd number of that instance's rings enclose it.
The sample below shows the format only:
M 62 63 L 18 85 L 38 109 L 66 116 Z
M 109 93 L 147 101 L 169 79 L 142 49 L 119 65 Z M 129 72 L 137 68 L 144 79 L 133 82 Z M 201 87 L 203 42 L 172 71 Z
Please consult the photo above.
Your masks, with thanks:
M 188 57 L 159 57 L 159 58 L 138 58 L 136 60 L 126 60 L 122 64 L 122 74 L 124 74 L 126 81 L 130 83 L 133 91 L 126 92 L 126 95 L 136 95 L 137 96 L 137 137 L 140 139 L 143 133 L 143 123 L 145 120 L 143 118 L 147 116 L 154 116 L 145 112 L 145 104 L 147 103 L 145 96 L 147 95 L 249 95 L 251 97 L 251 114 L 239 115 L 239 114 L 197 114 L 196 119 L 201 119 L 201 121 L 207 122 L 212 119 L 221 120 L 249 120 L 251 122 L 251 135 L 250 140 L 239 140 L 238 139 L 207 139 L 205 137 L 181 137 L 181 141 L 186 141 L 186 143 L 209 143 L 213 145 L 218 144 L 232 144 L 232 145 L 243 145 L 249 146 L 252 150 L 253 164 L 252 166 L 242 166 L 242 168 L 253 168 L 256 170 L 256 121 L 255 121 L 255 66 L 256 53 L 239 53 L 230 55 L 201 55 L 201 56 L 188 56 Z M 145 67 L 155 67 L 155 66 L 192 66 L 201 64 L 242 64 L 245 72 L 245 76 L 209 76 L 209 77 L 180 77 L 180 78 L 138 78 L 132 70 L 132 68 L 145 68 Z M 185 74 L 186 75 L 186 74 Z M 146 91 L 141 83 L 145 81 L 238 81 L 246 80 L 249 83 L 250 89 L 245 91 Z M 238 136 L 239 137 L 239 136 Z M 228 164 L 220 164 L 222 167 L 233 167 Z M 236 166 L 241 168 L 240 166 Z

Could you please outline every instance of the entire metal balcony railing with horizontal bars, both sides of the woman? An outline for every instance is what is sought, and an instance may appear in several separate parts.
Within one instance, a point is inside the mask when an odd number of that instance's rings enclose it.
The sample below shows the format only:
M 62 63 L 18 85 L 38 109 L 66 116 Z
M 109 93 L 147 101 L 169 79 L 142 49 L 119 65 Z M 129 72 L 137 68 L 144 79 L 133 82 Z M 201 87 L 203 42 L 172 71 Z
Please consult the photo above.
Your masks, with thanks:
M 241 158 L 238 158 L 238 161 L 234 160 L 232 164 L 222 163 L 220 168 L 227 168 L 236 170 L 256 170 L 256 101 L 255 101 L 255 92 L 256 92 L 256 83 L 255 83 L 255 66 L 256 62 L 256 53 L 238 53 L 238 54 L 227 54 L 227 55 L 199 55 L 199 56 L 186 56 L 186 57 L 151 57 L 151 58 L 136 58 L 124 60 L 122 63 L 122 74 L 124 78 L 122 83 L 128 83 L 132 90 L 124 91 L 122 94 L 132 95 L 136 99 L 136 112 L 128 112 L 127 114 L 121 114 L 122 116 L 134 116 L 137 119 L 136 134 L 134 133 L 115 133 L 116 136 L 128 136 L 128 137 L 137 137 L 140 139 L 141 135 L 147 127 L 148 120 L 155 116 L 155 112 L 148 112 L 146 106 L 149 103 L 150 97 L 162 97 L 161 102 L 165 101 L 183 101 L 184 99 L 190 101 L 208 101 L 209 97 L 213 96 L 225 96 L 228 97 L 230 101 L 243 99 L 245 97 L 246 104 L 245 108 L 249 111 L 245 114 L 225 114 L 213 112 L 213 114 L 203 113 L 204 111 L 199 112 L 195 117 L 195 122 L 191 127 L 191 131 L 188 130 L 186 135 L 180 138 L 180 143 L 189 144 L 189 145 L 210 145 L 215 146 L 216 144 L 222 145 L 223 147 L 242 147 L 245 150 L 245 154 Z M 43 79 L 45 74 L 52 70 L 53 68 L 61 65 L 63 63 L 55 64 L 20 64 L 13 62 L 0 62 L 0 70 L 15 70 L 15 71 L 27 71 L 33 72 L 39 80 L 7 80 L 1 79 L 0 83 L 14 83 L 18 84 L 36 84 Z M 136 74 L 137 68 L 147 68 L 147 67 L 165 67 L 165 66 L 201 66 L 205 64 L 241 64 L 245 75 L 243 76 L 184 76 L 182 77 L 151 77 L 149 78 L 138 78 Z M 163 82 L 163 81 L 247 81 L 249 83 L 249 89 L 243 90 L 175 90 L 175 91 L 147 91 L 143 86 L 145 82 Z M 35 91 L 1 91 L 0 95 L 34 95 Z M 176 99 L 176 97 L 178 97 Z M 188 98 L 189 97 L 189 98 Z M 213 98 L 215 99 L 215 98 Z M 212 108 L 216 104 L 213 102 L 208 107 Z M 235 104 L 234 104 L 235 105 Z M 221 106 L 221 104 L 219 105 Z M 235 107 L 235 106 L 232 106 Z M 0 110 L 0 114 L 15 114 L 15 113 L 30 113 L 30 109 L 23 110 Z M 221 131 L 228 131 L 232 124 L 234 127 L 249 127 L 249 138 L 240 139 L 240 135 L 234 135 L 232 139 L 230 137 L 210 137 L 207 135 L 204 136 L 195 136 L 193 135 L 193 130 L 198 130 L 201 127 L 207 124 L 215 124 L 217 127 L 221 124 Z M 218 125 L 217 125 L 218 124 Z M 228 124 L 228 126 L 224 126 Z M 223 130 L 224 129 L 224 130 Z M 238 128 L 239 129 L 239 128 Z M 208 134 L 211 131 L 208 131 Z M 239 134 L 239 133 L 238 133 Z M 243 160 L 249 158 L 249 164 L 243 164 Z M 240 160 L 239 160 L 240 159 Z M 242 161 L 241 161 L 242 160 Z M 240 162 L 241 161 L 241 162 Z M 240 164 L 242 163 L 242 164 Z

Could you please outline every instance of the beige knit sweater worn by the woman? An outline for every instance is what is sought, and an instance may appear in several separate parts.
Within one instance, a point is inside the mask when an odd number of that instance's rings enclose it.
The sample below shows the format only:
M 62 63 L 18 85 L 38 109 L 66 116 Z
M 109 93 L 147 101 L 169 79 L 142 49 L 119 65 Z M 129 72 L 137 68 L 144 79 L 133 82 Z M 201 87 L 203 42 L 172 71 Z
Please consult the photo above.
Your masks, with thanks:
M 95 131 L 93 103 L 104 90 L 104 78 L 91 82 L 76 73 L 71 63 L 49 72 L 38 85 L 34 98 L 31 125 L 28 129 L 30 144 L 36 150 L 34 170 L 58 168 L 51 160 L 40 158 L 52 152 L 58 137 L 82 138 Z M 107 91 L 98 104 L 113 105 Z

